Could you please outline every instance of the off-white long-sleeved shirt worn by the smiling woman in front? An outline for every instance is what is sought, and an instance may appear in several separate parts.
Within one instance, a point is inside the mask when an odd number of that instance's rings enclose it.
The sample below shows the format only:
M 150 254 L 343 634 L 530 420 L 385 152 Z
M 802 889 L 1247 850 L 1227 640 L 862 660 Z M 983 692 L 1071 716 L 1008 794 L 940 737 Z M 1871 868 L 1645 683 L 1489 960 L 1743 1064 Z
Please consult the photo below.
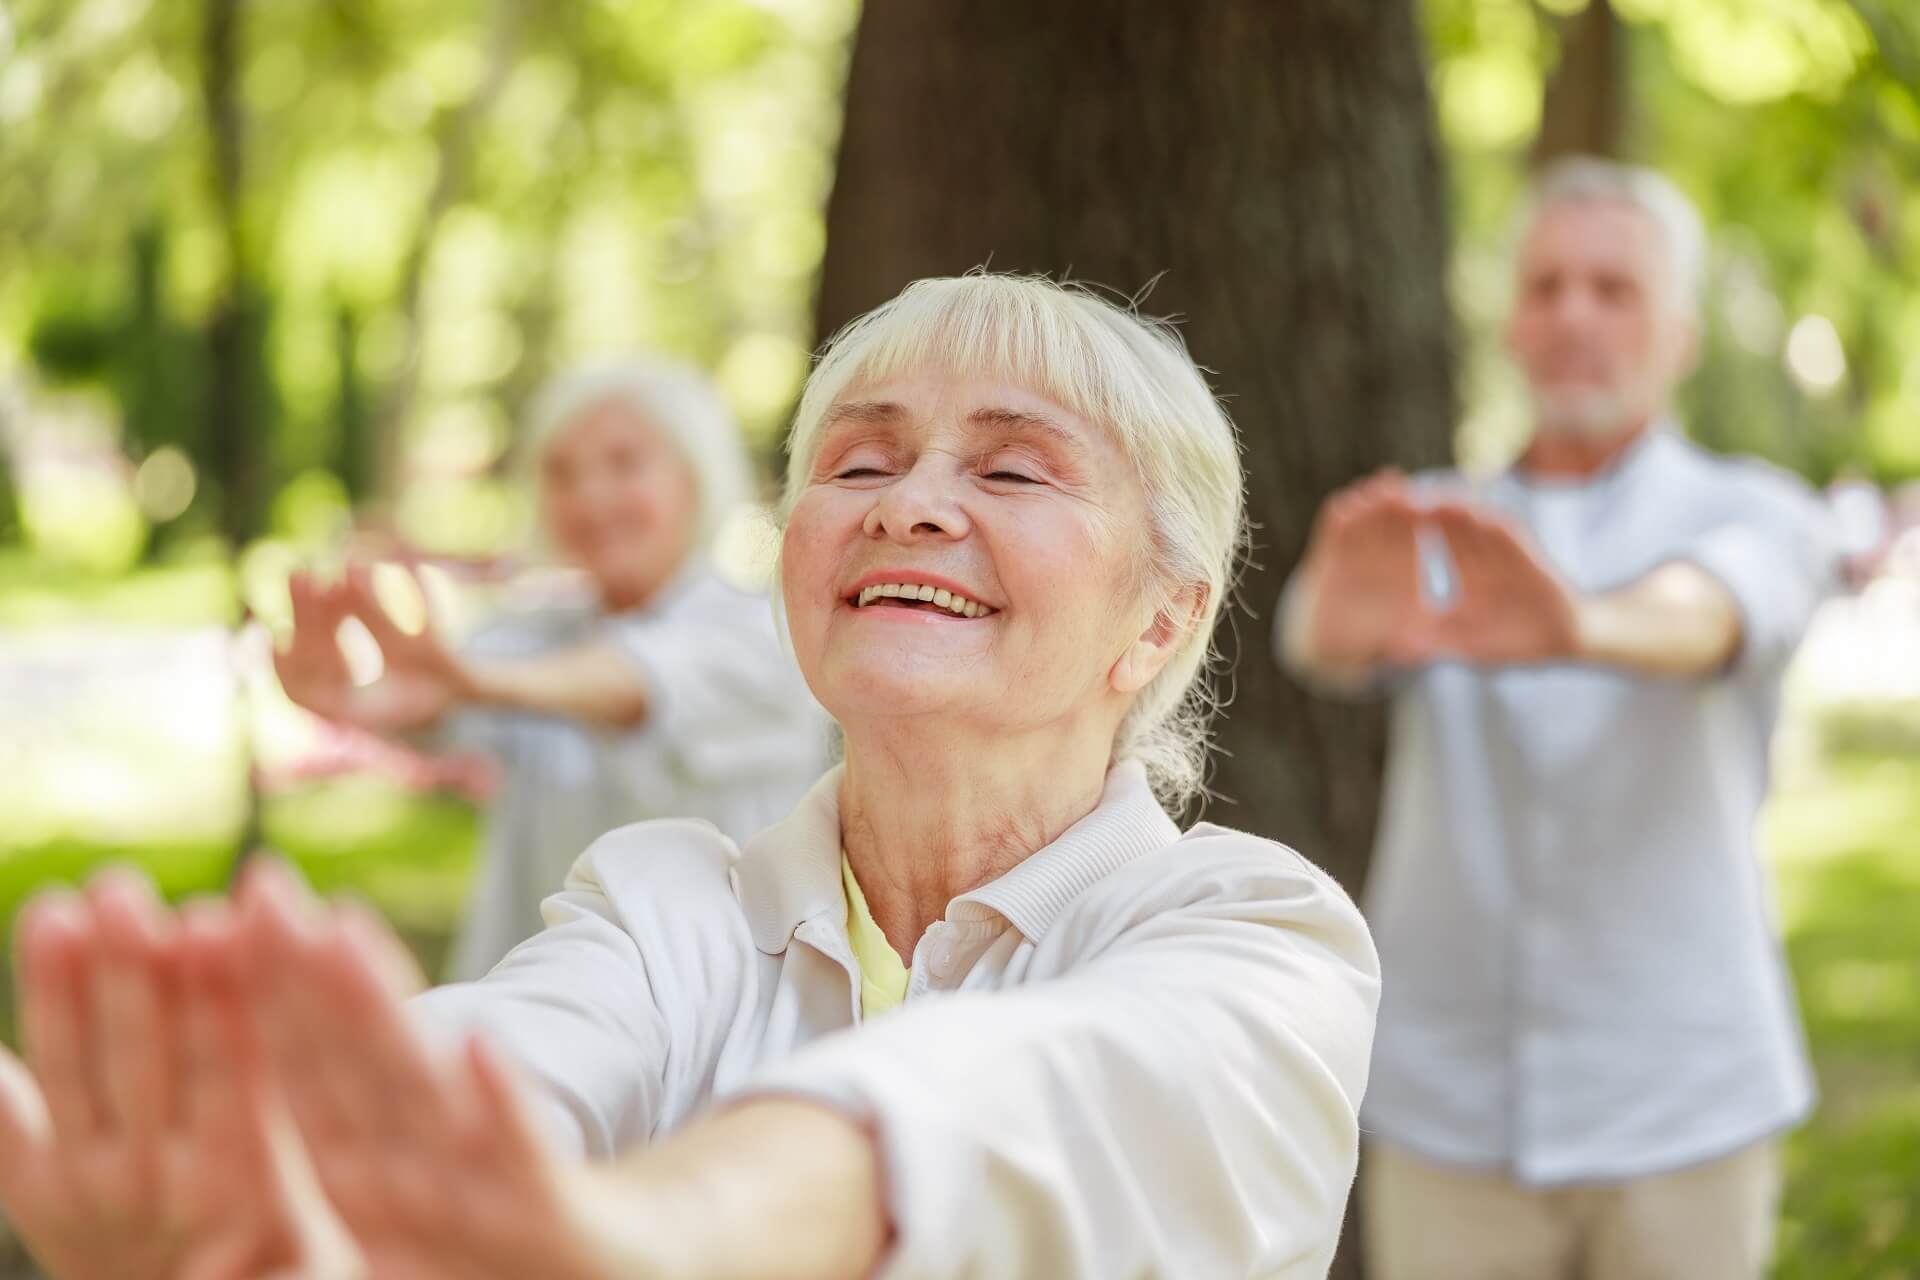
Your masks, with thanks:
M 424 1011 L 492 1032 L 589 1157 L 720 1098 L 870 1119 L 889 1278 L 1323 1276 L 1379 1000 L 1346 894 L 1271 841 L 1181 835 L 1123 764 L 862 1025 L 837 785 L 743 850 L 693 821 L 603 837 L 545 933 Z

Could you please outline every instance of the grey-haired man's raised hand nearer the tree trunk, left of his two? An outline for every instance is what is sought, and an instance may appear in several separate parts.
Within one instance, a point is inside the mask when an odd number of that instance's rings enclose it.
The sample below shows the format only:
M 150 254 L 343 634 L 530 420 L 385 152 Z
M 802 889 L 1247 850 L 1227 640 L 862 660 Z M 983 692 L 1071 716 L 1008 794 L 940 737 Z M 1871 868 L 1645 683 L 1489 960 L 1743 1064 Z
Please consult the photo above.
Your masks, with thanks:
M 1371 668 L 1392 658 L 1421 608 L 1415 520 L 1396 472 L 1361 480 L 1321 507 L 1308 547 L 1308 643 L 1321 662 Z

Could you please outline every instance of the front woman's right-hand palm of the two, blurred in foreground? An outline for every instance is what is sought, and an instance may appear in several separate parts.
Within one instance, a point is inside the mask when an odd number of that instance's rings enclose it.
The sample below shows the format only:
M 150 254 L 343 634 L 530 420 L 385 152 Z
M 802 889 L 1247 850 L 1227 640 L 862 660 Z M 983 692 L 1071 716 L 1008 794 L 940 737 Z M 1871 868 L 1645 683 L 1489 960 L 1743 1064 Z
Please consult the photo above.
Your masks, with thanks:
M 250 871 L 240 917 L 252 1021 L 371 1276 L 636 1274 L 601 1261 L 591 1174 L 549 1153 L 507 1065 L 422 1038 L 401 1004 L 419 971 L 378 917 L 275 864 Z

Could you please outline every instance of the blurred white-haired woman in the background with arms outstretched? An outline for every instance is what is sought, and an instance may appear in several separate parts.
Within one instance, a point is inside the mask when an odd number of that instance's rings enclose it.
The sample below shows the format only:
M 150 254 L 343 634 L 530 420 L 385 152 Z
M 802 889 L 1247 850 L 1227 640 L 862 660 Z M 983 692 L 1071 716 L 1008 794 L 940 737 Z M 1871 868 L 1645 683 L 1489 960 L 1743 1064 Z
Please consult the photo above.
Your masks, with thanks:
M 365 566 L 334 585 L 296 576 L 294 637 L 276 654 L 301 706 L 499 768 L 453 977 L 480 977 L 540 931 L 540 900 L 580 850 L 643 818 L 705 818 L 745 841 L 828 760 L 820 708 L 764 601 L 705 564 L 749 497 L 739 432 L 691 368 L 630 363 L 568 374 L 536 397 L 528 455 L 551 545 L 591 593 L 493 620 L 453 652 L 397 628 Z M 348 679 L 336 633 L 359 616 L 384 674 Z

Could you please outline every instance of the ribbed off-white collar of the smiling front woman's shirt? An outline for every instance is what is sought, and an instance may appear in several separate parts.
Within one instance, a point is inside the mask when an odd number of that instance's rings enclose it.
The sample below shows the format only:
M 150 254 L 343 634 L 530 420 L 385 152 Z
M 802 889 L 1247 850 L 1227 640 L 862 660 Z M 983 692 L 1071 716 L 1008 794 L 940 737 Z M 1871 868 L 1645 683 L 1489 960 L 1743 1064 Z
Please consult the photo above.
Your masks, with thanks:
M 762 952 L 783 952 L 793 931 L 814 915 L 847 917 L 839 781 L 841 770 L 829 770 L 787 818 L 741 848 L 735 892 Z M 954 898 L 947 919 L 981 919 L 991 912 L 1039 938 L 1087 887 L 1179 837 L 1181 829 L 1154 800 L 1146 770 L 1133 760 L 1117 764 L 1091 814 L 1006 875 Z

